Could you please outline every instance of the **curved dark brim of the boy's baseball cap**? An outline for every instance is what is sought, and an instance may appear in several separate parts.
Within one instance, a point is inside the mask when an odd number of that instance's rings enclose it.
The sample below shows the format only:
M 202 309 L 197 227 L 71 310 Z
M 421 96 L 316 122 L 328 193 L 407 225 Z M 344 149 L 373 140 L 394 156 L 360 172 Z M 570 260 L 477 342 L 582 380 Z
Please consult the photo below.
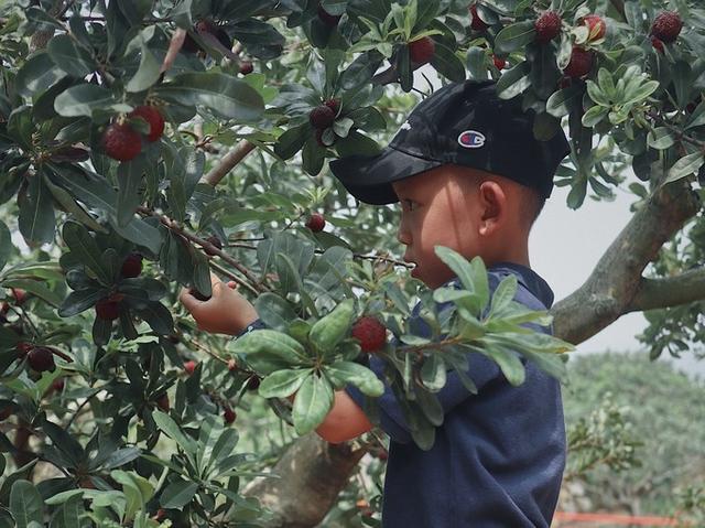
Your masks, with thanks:
M 333 175 L 360 202 L 372 205 L 399 202 L 392 182 L 443 165 L 387 147 L 375 157 L 349 155 L 330 162 Z

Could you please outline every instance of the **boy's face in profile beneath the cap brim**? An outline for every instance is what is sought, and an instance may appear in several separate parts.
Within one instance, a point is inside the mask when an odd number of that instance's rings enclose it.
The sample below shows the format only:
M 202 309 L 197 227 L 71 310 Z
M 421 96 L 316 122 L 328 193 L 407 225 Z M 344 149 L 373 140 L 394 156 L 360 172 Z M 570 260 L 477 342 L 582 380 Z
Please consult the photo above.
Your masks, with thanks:
M 495 198 L 488 202 L 467 170 L 443 165 L 394 182 L 392 186 L 401 205 L 397 237 L 406 246 L 404 260 L 416 265 L 412 277 L 429 288 L 437 288 L 454 277 L 435 255 L 435 246 L 446 246 L 467 259 L 479 255 L 487 261 L 490 248 L 486 235 L 497 227 L 494 223 L 498 215 L 492 209 L 505 211 L 505 207 L 492 204 Z M 501 188 L 499 192 L 501 194 Z

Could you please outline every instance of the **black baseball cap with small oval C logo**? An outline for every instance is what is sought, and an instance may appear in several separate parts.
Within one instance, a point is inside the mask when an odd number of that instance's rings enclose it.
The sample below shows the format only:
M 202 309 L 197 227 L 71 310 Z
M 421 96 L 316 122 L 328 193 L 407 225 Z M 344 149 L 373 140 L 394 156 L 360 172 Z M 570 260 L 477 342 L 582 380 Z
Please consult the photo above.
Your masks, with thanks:
M 422 100 L 379 154 L 332 161 L 330 171 L 375 205 L 399 201 L 392 182 L 448 163 L 508 177 L 547 198 L 571 149 L 560 127 L 550 140 L 536 139 L 534 117 L 520 98 L 500 99 L 494 80 L 452 83 Z

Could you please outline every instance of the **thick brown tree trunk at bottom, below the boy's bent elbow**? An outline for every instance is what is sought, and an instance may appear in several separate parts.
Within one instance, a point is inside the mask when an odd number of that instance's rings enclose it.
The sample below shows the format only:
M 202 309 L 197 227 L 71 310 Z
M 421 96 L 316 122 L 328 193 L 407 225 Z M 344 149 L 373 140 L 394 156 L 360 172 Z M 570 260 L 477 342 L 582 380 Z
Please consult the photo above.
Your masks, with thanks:
M 257 497 L 274 518 L 268 528 L 310 528 L 318 525 L 345 487 L 365 449 L 350 442 L 332 444 L 317 434 L 297 439 L 272 468 L 280 478 L 253 481 L 245 495 Z

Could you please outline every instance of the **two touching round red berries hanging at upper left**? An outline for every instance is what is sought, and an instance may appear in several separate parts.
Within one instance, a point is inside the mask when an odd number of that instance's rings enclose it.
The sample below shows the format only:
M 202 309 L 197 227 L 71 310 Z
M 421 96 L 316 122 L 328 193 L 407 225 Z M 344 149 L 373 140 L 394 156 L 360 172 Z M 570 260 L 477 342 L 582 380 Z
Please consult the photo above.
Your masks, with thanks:
M 147 140 L 158 141 L 164 133 L 164 118 L 153 106 L 138 106 L 128 118 L 142 118 L 149 125 Z M 130 161 L 142 152 L 142 134 L 129 122 L 118 120 L 111 123 L 102 134 L 102 148 L 110 158 L 118 161 Z

